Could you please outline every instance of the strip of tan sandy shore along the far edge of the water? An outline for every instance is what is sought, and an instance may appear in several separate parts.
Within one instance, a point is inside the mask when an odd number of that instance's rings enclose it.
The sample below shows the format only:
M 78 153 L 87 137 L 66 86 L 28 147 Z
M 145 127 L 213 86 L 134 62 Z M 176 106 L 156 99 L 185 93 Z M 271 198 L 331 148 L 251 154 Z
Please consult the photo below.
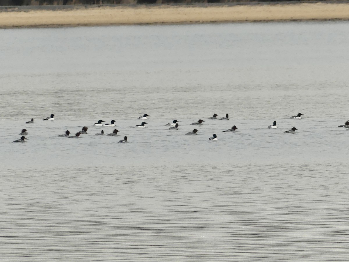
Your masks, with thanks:
M 0 28 L 335 19 L 349 20 L 349 3 L 18 10 L 0 12 Z

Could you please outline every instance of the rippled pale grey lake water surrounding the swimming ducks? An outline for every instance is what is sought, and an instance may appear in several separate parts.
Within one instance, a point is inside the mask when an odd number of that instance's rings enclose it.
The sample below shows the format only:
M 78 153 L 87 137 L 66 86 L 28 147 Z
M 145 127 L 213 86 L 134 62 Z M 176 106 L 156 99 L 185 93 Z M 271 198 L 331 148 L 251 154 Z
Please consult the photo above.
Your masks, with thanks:
M 0 39 L 1 261 L 349 260 L 348 22 Z

